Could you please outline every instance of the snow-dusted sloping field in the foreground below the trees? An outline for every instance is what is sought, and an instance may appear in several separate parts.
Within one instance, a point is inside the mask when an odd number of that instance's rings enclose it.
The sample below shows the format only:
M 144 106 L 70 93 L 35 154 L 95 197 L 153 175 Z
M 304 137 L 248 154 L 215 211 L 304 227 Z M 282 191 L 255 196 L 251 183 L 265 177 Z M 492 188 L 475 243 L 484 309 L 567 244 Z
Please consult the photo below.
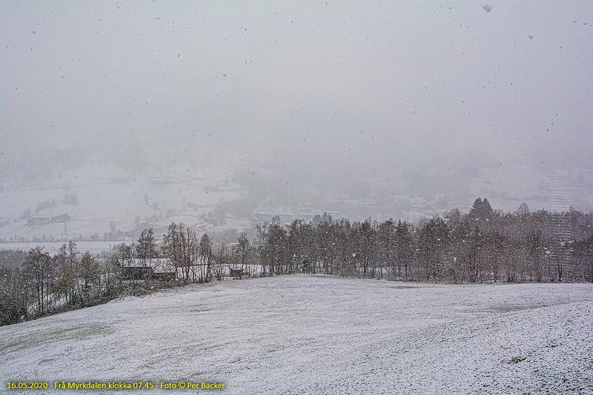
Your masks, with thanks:
M 191 380 L 227 394 L 591 394 L 592 306 L 593 284 L 219 281 L 0 328 L 0 393 Z

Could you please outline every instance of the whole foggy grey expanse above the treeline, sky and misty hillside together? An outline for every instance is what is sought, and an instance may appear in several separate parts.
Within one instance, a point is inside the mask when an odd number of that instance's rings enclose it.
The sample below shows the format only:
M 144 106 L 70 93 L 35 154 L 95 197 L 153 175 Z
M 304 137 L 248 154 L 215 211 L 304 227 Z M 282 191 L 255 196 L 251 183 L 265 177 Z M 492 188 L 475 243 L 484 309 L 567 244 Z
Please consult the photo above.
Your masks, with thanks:
M 593 4 L 5 2 L 0 241 L 593 209 Z

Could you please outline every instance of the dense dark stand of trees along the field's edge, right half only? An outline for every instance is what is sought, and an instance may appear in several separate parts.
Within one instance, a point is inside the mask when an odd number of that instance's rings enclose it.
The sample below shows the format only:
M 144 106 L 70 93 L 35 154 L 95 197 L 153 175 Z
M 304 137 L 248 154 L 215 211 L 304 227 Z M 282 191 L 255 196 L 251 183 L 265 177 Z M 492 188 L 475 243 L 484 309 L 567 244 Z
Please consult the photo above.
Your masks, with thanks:
M 263 274 L 297 271 L 435 282 L 593 281 L 593 217 L 493 210 L 478 198 L 467 214 L 451 210 L 414 225 L 315 216 L 256 227 L 250 262 Z

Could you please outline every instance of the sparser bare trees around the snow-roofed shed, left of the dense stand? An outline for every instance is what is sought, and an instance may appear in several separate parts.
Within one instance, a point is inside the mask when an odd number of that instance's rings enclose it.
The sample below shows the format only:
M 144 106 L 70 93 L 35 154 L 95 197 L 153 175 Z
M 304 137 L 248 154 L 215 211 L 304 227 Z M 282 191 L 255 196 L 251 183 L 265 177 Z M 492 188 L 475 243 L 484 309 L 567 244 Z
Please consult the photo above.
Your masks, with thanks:
M 183 223 L 172 223 L 160 245 L 153 230 L 145 229 L 136 242 L 122 243 L 101 254 L 81 253 L 73 241 L 62 245 L 53 256 L 41 246 L 27 253 L 3 250 L 0 325 L 189 282 L 221 280 L 225 268 L 234 262 L 231 250 L 225 244 L 215 246 L 206 233 L 198 239 L 196 230 Z M 150 275 L 139 278 L 127 271 L 152 267 L 160 258 L 167 258 L 161 269 L 174 272 L 175 281 L 159 281 Z

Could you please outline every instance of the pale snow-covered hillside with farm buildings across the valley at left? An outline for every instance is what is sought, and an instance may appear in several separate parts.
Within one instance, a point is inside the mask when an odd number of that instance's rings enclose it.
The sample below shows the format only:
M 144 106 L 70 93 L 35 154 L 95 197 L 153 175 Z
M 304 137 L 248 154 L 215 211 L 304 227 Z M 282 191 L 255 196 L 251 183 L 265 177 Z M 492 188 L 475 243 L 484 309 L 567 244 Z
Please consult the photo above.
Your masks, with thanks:
M 133 176 L 109 163 L 94 163 L 56 170 L 40 181 L 14 179 L 0 190 L 0 201 L 5 203 L 0 205 L 0 240 L 11 244 L 5 248 L 25 249 L 14 242 L 106 239 L 102 249 L 107 249 L 120 240 L 117 231 L 137 236 L 153 227 L 158 234 L 171 221 L 184 221 L 202 231 L 250 227 L 247 219 L 230 213 L 220 214 L 217 221 L 206 220 L 219 203 L 240 196 L 240 187 L 227 178 L 215 172 Z M 67 219 L 60 219 L 65 215 Z M 106 233 L 111 235 L 105 238 Z

